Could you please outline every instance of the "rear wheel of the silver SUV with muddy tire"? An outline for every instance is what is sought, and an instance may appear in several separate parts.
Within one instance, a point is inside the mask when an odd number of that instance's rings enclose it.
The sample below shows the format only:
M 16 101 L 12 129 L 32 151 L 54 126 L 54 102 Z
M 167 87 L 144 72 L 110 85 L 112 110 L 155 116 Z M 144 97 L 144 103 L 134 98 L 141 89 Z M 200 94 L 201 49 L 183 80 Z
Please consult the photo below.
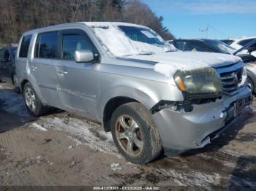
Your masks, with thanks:
M 30 114 L 39 117 L 47 113 L 47 107 L 39 100 L 39 97 L 30 82 L 27 82 L 23 88 L 23 98 Z

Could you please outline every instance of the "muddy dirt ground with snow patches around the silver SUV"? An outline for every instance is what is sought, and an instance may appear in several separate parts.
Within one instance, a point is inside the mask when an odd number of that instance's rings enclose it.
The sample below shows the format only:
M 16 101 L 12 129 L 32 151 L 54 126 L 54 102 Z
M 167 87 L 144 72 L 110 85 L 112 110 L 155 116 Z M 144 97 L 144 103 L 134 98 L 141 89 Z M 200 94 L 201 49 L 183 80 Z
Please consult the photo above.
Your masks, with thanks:
M 256 104 L 204 149 L 134 165 L 110 133 L 67 112 L 31 117 L 0 83 L 0 185 L 157 185 L 256 189 Z

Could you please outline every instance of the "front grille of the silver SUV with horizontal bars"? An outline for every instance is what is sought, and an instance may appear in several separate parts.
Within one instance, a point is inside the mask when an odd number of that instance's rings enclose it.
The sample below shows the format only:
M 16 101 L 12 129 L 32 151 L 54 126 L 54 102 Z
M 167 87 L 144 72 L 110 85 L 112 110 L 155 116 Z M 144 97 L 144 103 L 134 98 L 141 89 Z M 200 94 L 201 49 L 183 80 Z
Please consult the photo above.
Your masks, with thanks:
M 238 90 L 238 85 L 242 80 L 243 66 L 244 64 L 239 62 L 233 65 L 217 68 L 217 71 L 222 79 L 224 93 L 236 93 L 236 90 Z

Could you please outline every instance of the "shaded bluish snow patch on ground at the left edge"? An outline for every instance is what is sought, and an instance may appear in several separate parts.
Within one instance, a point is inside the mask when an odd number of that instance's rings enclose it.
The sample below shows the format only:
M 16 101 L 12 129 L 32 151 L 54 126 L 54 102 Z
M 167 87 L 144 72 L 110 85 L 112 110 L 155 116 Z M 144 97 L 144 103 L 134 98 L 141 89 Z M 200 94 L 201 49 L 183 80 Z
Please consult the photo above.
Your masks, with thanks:
M 1 108 L 10 114 L 18 114 L 21 117 L 30 116 L 22 96 L 11 89 L 0 90 L 0 104 L 3 105 Z

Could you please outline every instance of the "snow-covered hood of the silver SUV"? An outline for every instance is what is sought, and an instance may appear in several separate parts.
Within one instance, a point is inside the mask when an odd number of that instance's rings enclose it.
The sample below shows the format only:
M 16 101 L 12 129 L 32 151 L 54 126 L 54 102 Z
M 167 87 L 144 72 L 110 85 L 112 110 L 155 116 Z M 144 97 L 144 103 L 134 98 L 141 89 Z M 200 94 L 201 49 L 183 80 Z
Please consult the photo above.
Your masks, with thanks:
M 155 62 L 157 64 L 154 70 L 165 74 L 166 77 L 172 77 L 178 70 L 227 66 L 241 61 L 238 56 L 211 52 L 163 52 L 154 55 L 132 55 L 128 58 Z

